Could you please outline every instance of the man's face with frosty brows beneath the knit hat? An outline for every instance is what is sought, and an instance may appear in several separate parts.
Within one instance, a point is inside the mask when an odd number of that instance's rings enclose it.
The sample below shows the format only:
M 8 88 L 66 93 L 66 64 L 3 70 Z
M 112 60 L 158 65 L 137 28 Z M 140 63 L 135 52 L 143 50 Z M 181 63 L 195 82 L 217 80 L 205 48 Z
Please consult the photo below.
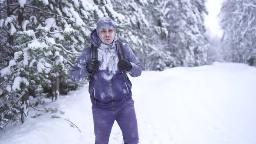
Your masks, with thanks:
M 108 45 L 113 42 L 115 38 L 115 31 L 111 28 L 104 28 L 98 32 L 98 37 L 102 43 Z

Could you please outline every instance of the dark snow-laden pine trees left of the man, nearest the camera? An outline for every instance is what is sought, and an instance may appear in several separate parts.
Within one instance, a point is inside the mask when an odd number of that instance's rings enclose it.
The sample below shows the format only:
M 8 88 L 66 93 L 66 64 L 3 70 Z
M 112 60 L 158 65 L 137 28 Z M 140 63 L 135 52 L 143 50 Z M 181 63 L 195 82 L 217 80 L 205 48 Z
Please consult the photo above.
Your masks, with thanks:
M 7 49 L 3 52 L 7 57 L 1 58 L 0 128 L 17 121 L 19 115 L 23 122 L 28 105 L 36 105 L 44 98 L 57 100 L 59 94 L 78 86 L 69 80 L 69 68 L 89 45 L 86 37 L 98 18 L 116 14 L 108 3 L 108 0 L 1 3 L 0 27 L 4 32 L 1 47 Z M 33 97 L 36 103 L 28 101 Z

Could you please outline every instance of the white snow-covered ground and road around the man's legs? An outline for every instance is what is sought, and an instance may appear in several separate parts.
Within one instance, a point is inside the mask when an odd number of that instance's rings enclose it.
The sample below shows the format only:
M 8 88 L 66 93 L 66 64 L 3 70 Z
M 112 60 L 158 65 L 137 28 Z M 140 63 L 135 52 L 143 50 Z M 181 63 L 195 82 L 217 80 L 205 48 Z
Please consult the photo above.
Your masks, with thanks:
M 140 144 L 256 144 L 255 67 L 214 63 L 144 71 L 130 79 Z M 92 104 L 87 91 L 85 85 L 47 105 L 65 111 L 64 115 L 46 113 L 1 131 L 0 143 L 94 144 Z M 116 123 L 109 144 L 122 144 Z

